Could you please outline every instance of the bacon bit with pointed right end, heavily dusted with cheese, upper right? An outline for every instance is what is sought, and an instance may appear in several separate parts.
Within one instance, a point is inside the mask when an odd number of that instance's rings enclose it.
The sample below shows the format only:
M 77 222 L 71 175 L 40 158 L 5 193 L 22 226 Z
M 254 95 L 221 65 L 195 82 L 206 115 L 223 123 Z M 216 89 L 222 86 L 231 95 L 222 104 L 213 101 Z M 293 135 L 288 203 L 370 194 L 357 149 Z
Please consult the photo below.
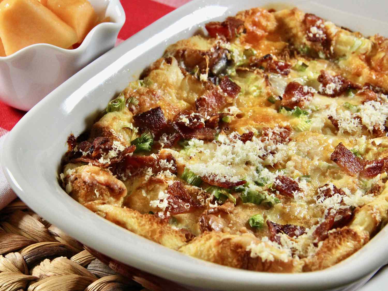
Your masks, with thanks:
M 337 97 L 346 92 L 348 89 L 360 89 L 361 86 L 349 80 L 346 80 L 341 75 L 331 76 L 324 70 L 320 71 L 318 76 L 319 93 L 329 97 Z

